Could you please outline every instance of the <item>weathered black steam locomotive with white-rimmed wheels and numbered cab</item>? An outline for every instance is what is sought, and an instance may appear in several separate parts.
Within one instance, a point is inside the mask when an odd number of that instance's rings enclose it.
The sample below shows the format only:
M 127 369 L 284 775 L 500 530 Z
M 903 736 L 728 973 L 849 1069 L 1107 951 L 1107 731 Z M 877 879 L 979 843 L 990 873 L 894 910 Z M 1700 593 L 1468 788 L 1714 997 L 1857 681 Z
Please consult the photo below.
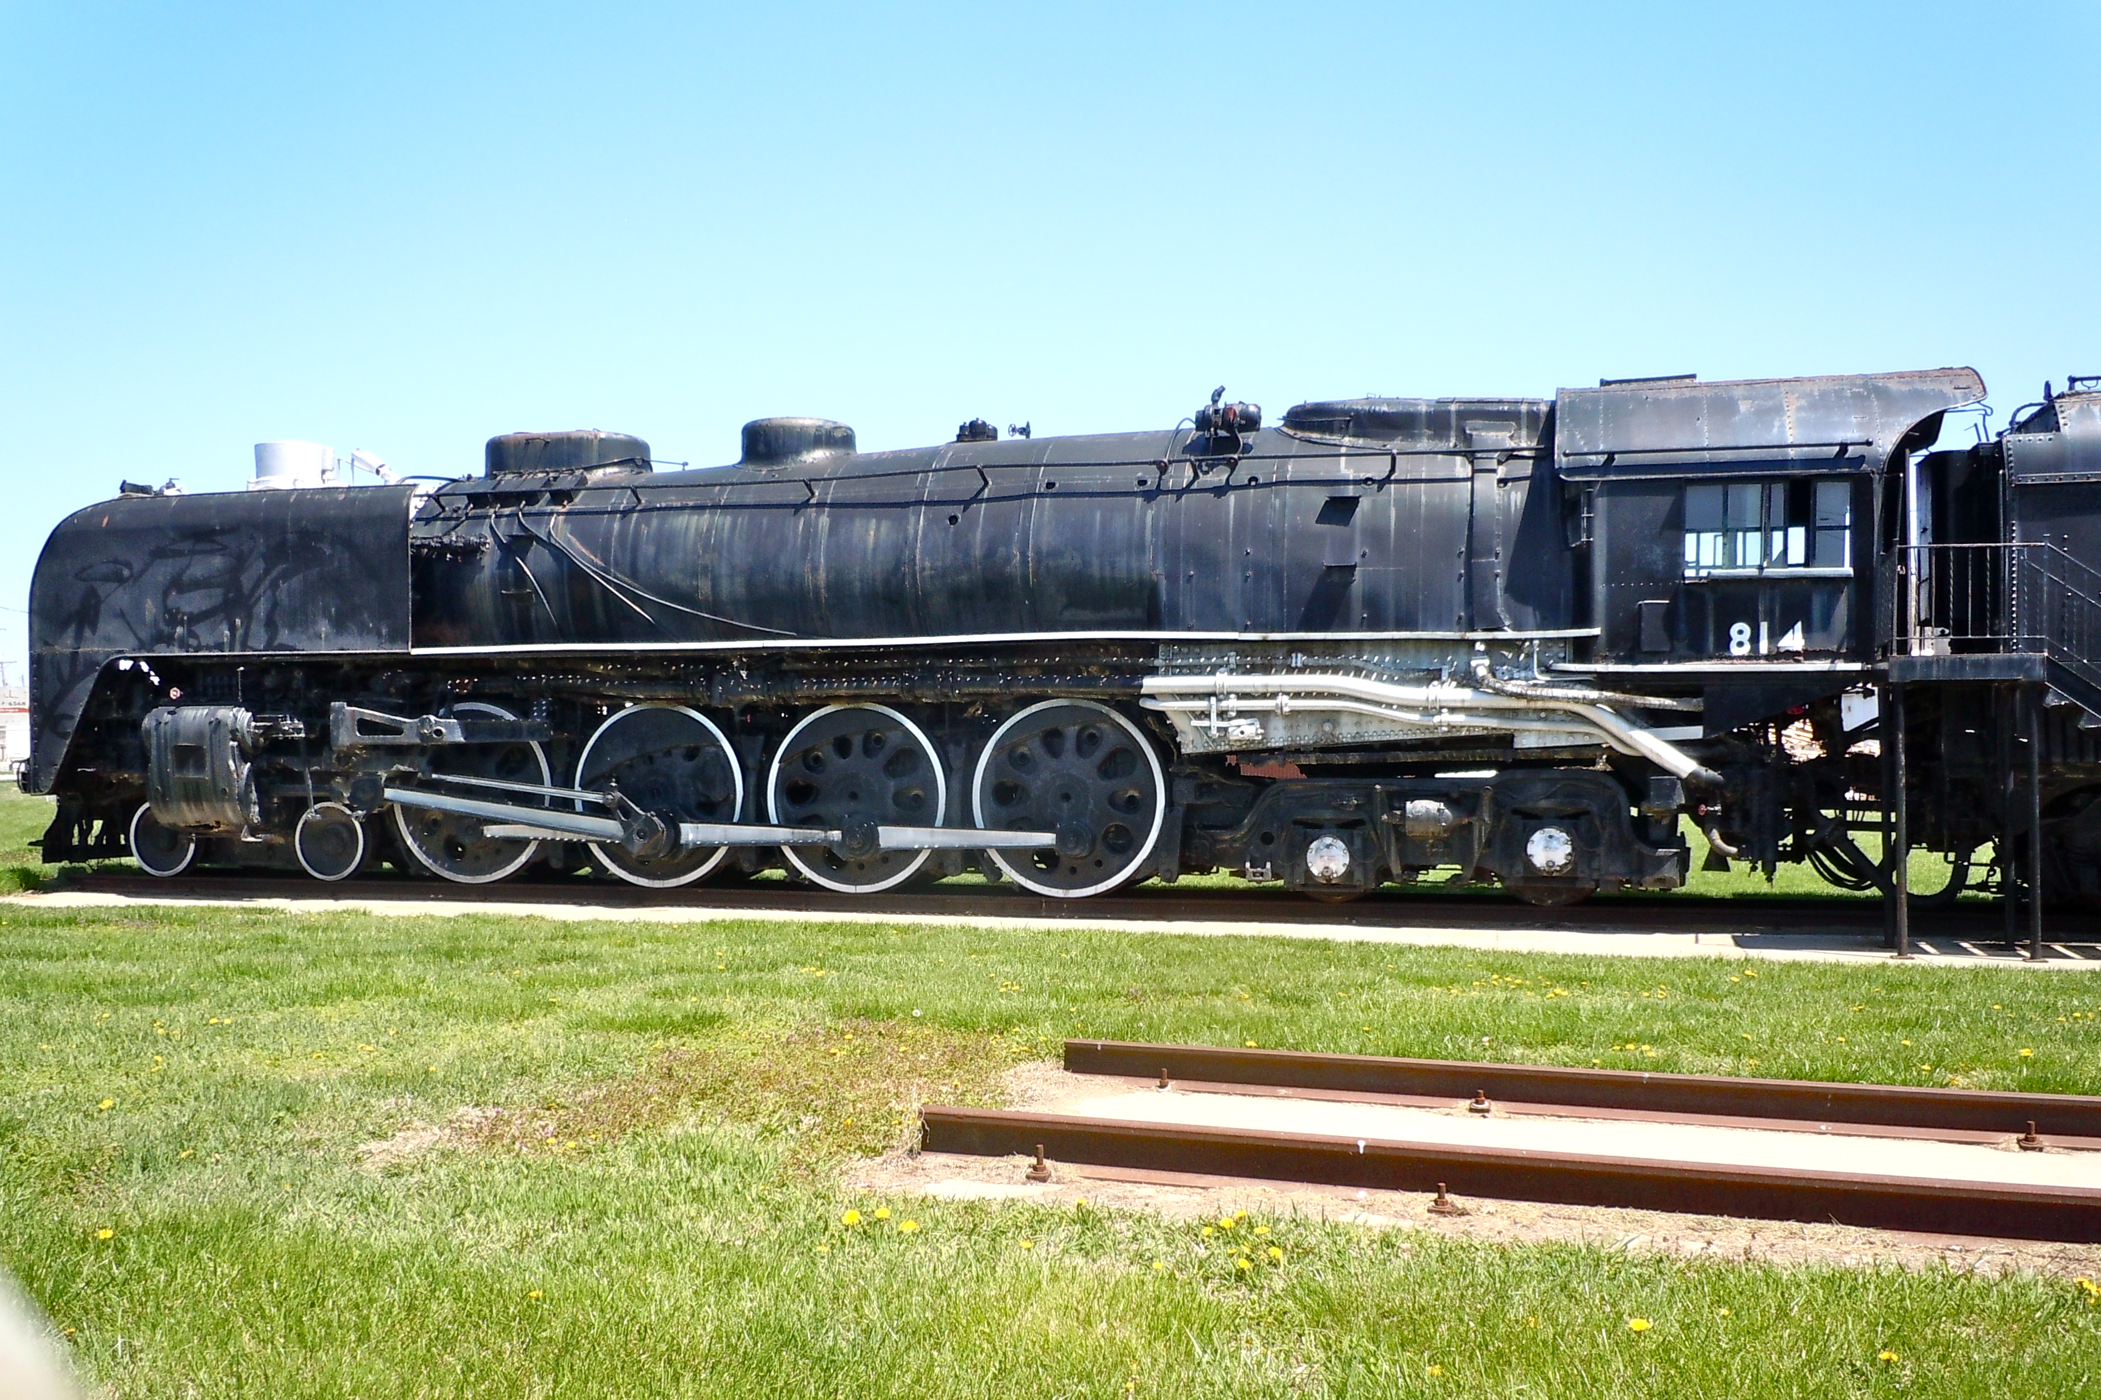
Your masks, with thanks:
M 2101 890 L 2101 393 L 1971 369 L 126 493 L 32 588 L 46 861 L 1559 905 L 1708 858 Z M 1994 848 L 1990 863 L 1975 858 Z M 2044 873 L 2048 871 L 2048 873 Z

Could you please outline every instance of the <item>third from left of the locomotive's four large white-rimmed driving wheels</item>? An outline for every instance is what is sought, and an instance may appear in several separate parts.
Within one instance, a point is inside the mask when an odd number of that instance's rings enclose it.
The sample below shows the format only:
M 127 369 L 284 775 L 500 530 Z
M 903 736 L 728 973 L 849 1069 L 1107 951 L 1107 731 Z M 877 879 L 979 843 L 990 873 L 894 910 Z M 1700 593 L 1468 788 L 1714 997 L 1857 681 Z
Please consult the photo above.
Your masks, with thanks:
M 876 827 L 939 827 L 948 816 L 941 756 L 889 705 L 826 705 L 788 730 L 767 770 L 767 819 L 840 831 L 840 850 L 784 846 L 826 890 L 876 894 L 927 865 L 927 850 L 876 850 Z

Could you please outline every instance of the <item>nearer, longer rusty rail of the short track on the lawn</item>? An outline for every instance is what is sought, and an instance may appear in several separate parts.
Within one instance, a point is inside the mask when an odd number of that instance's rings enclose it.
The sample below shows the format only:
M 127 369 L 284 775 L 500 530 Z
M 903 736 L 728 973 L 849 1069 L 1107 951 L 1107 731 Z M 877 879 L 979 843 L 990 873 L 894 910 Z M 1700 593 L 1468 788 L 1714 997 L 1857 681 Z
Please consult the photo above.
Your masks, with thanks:
M 2101 1190 L 1931 1182 L 1836 1171 L 1452 1148 L 1412 1142 L 1076 1119 L 996 1108 L 927 1108 L 929 1152 L 1027 1154 L 1147 1171 L 1319 1182 L 1376 1190 L 1759 1219 L 1836 1222 L 1998 1238 L 2101 1243 Z

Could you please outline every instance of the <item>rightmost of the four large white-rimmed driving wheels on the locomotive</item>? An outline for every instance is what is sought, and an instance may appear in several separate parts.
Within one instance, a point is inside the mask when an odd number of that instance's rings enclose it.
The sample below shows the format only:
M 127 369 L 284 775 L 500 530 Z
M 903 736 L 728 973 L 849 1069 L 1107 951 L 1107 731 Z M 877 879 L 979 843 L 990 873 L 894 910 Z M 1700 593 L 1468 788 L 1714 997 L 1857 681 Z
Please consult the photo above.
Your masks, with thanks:
M 1095 701 L 1042 701 L 1006 720 L 971 783 L 979 827 L 1057 833 L 1042 850 L 987 852 L 1017 886 L 1050 898 L 1135 879 L 1160 840 L 1166 793 L 1153 745 Z

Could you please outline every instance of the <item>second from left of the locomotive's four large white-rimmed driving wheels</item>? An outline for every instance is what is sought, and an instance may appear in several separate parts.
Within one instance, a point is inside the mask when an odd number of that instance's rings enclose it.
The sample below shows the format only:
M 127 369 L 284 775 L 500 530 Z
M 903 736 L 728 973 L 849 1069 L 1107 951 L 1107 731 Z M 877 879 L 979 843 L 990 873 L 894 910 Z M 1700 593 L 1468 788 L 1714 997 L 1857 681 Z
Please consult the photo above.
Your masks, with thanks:
M 735 749 L 708 716 L 683 705 L 630 705 L 605 720 L 576 760 L 576 785 L 584 791 L 618 785 L 620 796 L 674 829 L 683 821 L 733 823 L 744 810 Z M 603 816 L 597 806 L 588 810 Z M 637 856 L 616 842 L 592 842 L 590 854 L 628 884 L 668 890 L 708 875 L 729 848 L 681 846 Z

